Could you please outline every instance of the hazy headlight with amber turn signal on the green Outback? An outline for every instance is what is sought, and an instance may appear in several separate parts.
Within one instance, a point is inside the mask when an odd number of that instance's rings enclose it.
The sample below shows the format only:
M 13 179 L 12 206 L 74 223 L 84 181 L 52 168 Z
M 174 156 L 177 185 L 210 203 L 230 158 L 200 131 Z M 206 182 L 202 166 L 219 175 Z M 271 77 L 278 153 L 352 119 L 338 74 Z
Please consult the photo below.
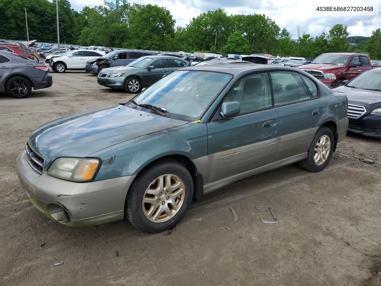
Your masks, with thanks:
M 100 161 L 97 158 L 61 157 L 48 169 L 48 175 L 72 182 L 88 182 L 98 171 Z

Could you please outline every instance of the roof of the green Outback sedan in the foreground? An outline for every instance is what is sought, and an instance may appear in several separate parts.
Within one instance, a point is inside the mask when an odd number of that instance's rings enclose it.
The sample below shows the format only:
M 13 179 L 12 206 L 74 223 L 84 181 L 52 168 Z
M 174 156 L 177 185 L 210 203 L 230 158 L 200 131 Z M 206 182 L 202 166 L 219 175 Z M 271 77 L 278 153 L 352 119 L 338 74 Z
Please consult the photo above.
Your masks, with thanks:
M 247 74 L 248 72 L 255 72 L 255 71 L 261 71 L 261 70 L 263 71 L 285 70 L 285 71 L 295 72 L 295 69 L 292 67 L 271 66 L 268 64 L 254 64 L 254 63 L 207 64 L 203 66 L 198 66 L 196 64 L 194 66 L 184 67 L 181 70 L 224 72 L 224 73 L 232 74 L 234 76 L 242 76 L 243 74 Z

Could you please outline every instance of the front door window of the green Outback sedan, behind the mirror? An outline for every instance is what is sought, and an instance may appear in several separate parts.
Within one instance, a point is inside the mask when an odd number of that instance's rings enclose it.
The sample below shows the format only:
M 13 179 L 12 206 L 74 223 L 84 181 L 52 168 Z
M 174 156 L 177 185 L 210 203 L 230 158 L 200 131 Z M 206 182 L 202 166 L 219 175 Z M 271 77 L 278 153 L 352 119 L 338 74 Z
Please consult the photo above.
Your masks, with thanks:
M 238 101 L 241 112 L 251 112 L 272 106 L 270 82 L 267 73 L 251 74 L 240 79 L 223 102 Z

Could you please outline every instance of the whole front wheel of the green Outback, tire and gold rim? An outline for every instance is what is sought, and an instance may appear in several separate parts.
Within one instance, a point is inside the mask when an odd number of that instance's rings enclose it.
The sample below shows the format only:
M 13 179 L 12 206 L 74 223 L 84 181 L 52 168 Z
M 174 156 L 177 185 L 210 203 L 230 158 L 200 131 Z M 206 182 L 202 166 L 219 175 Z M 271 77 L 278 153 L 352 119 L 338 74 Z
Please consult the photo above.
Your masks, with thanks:
M 126 198 L 126 217 L 140 231 L 162 232 L 184 217 L 192 198 L 189 171 L 173 159 L 163 159 L 135 178 Z

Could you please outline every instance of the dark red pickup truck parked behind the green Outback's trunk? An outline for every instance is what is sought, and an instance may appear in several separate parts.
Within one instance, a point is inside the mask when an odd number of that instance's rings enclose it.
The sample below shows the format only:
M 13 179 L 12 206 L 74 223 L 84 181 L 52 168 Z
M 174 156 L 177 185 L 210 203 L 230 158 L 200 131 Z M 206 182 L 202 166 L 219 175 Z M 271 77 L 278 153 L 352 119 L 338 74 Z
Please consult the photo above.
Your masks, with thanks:
M 326 53 L 298 69 L 308 72 L 329 88 L 335 88 L 344 85 L 344 80 L 351 80 L 372 69 L 372 66 L 366 54 Z

